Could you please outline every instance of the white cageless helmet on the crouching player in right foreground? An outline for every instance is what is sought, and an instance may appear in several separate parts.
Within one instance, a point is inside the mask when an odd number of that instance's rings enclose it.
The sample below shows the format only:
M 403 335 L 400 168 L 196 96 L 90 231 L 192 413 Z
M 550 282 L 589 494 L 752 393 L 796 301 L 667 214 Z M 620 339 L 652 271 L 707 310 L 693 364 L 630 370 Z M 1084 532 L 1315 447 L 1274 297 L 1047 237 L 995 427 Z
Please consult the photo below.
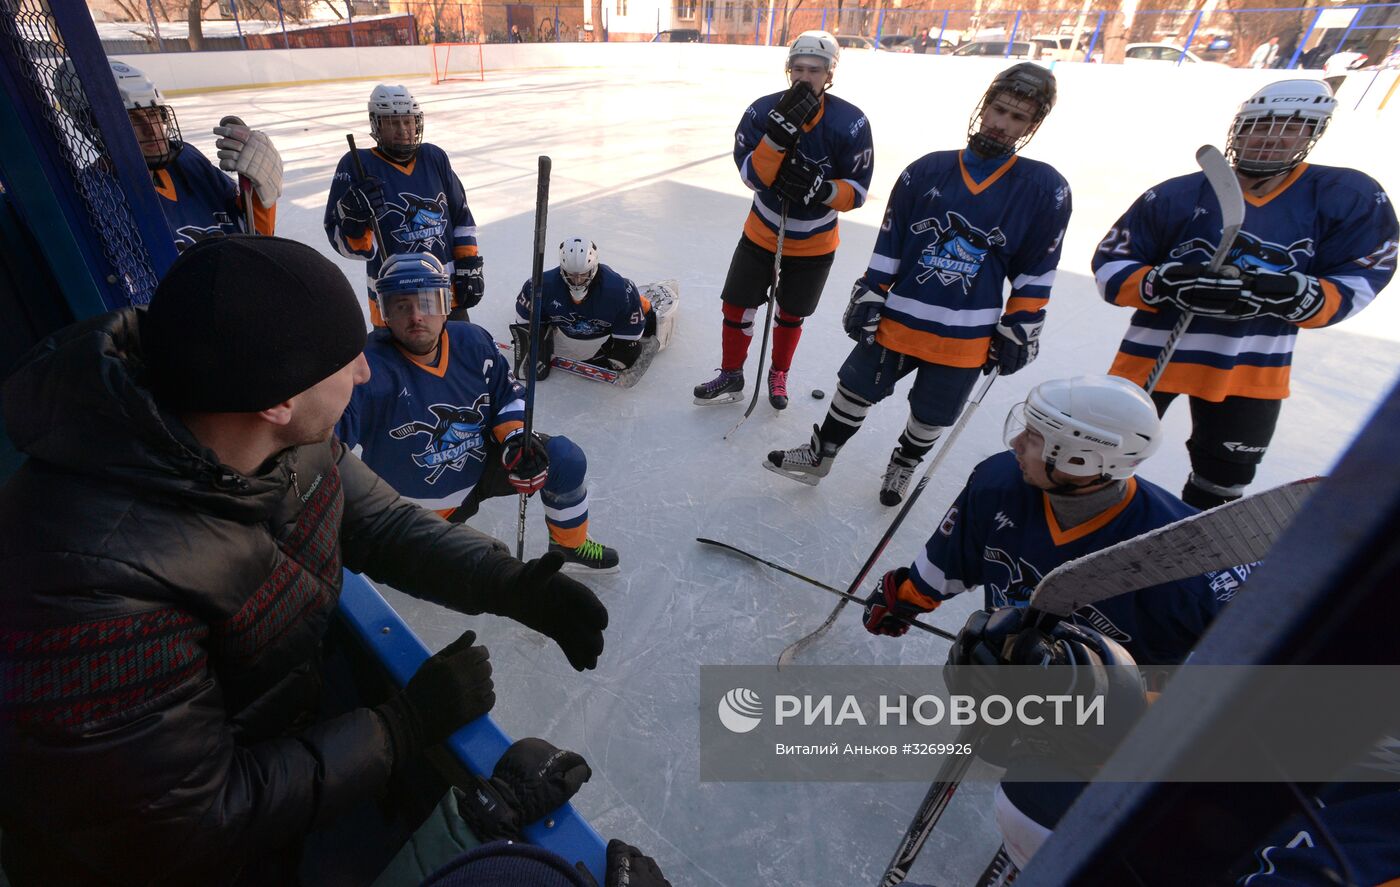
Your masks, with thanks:
M 1133 477 L 1162 444 L 1152 399 L 1119 376 L 1077 376 L 1042 382 L 1007 414 L 1002 439 L 1022 430 L 1044 439 L 1046 474 Z

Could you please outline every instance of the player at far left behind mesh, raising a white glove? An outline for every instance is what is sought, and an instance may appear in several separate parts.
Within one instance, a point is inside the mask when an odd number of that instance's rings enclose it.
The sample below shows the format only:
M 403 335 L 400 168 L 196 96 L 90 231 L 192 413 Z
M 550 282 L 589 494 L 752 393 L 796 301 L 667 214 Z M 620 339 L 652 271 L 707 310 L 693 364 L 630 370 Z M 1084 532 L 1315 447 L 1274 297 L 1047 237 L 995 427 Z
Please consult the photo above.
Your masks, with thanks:
M 273 234 L 277 221 L 277 197 L 281 194 L 281 155 L 267 134 L 251 130 L 237 118 L 216 126 L 218 168 L 199 148 L 186 143 L 175 109 L 165 104 L 160 90 L 140 70 L 125 62 L 109 62 L 116 92 L 132 120 L 141 147 L 151 183 L 161 199 L 161 210 L 175 248 L 225 234 Z M 85 94 L 66 62 L 57 74 L 57 92 L 70 111 L 88 108 Z M 252 186 L 239 193 L 238 185 L 218 169 L 238 173 Z M 255 231 L 248 231 L 251 200 Z

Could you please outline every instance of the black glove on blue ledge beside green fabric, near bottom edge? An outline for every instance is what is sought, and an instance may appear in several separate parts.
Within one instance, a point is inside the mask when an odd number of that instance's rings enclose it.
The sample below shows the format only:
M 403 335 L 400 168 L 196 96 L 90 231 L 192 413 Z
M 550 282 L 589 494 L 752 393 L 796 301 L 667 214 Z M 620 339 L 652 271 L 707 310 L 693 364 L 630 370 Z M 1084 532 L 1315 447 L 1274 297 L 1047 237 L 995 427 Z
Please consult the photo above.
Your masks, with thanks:
M 477 778 L 458 796 L 458 811 L 479 838 L 518 841 L 524 825 L 567 804 L 592 775 L 578 753 L 521 739 L 496 762 L 490 779 Z

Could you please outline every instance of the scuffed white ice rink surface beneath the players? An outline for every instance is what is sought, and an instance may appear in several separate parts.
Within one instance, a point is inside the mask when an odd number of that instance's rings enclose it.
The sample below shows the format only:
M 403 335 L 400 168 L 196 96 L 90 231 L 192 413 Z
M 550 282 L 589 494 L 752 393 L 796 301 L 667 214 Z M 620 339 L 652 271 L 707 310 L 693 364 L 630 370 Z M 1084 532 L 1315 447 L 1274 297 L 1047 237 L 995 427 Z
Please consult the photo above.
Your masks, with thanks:
M 924 795 L 920 783 L 701 783 L 697 694 L 701 665 L 773 663 L 830 610 L 826 593 L 696 544 L 711 536 L 749 547 L 832 585 L 854 576 L 895 509 L 876 491 L 907 409 L 879 404 L 832 474 L 808 488 L 764 471 L 773 448 L 806 441 L 850 350 L 840 315 L 864 270 L 895 176 L 924 152 L 965 143 L 967 116 L 1000 63 L 917 56 L 854 59 L 833 92 L 869 116 L 875 180 L 869 201 L 841 217 L 841 246 L 820 308 L 805 326 L 784 413 L 760 400 L 729 441 L 739 406 L 700 409 L 690 388 L 713 375 L 720 351 L 718 297 L 749 196 L 731 159 L 743 108 L 784 88 L 781 50 L 755 49 L 746 69 L 710 70 L 703 46 L 687 63 L 658 55 L 651 69 L 491 73 L 484 83 L 407 81 L 466 186 L 486 257 L 487 295 L 473 320 L 505 337 L 515 294 L 529 274 L 535 158 L 553 158 L 549 243 L 581 234 L 599 257 L 638 283 L 679 278 L 682 308 L 671 347 L 633 390 L 556 374 L 536 399 L 536 427 L 567 434 L 589 456 L 592 534 L 622 554 L 616 576 L 591 582 L 612 624 L 598 670 L 573 672 L 542 637 L 494 617 L 470 618 L 388 592 L 427 645 L 468 627 L 491 648 L 494 716 L 514 736 L 542 736 L 588 758 L 594 778 L 575 804 L 605 837 L 657 856 L 678 887 L 874 884 Z M 1135 76 L 1141 80 L 1141 76 Z M 1037 362 L 997 382 L 874 575 L 907 564 L 937 526 L 967 471 L 1001 449 L 1007 410 L 1049 378 L 1107 368 L 1126 309 L 1093 290 L 1089 257 L 1145 187 L 1194 169 L 1203 143 L 1224 147 L 1238 90 L 1163 70 L 1149 88 L 1103 90 L 1105 80 L 1061 76 L 1060 106 L 1025 154 L 1054 164 L 1074 189 L 1075 213 Z M 1100 85 L 1095 85 L 1100 84 Z M 372 83 L 186 95 L 174 101 L 188 140 L 213 155 L 209 129 L 238 113 L 266 129 L 286 159 L 279 234 L 328 255 L 322 213 L 344 133 L 370 147 L 365 99 Z M 1345 95 L 1345 94 L 1344 94 Z M 1350 105 L 1348 105 L 1350 108 Z M 1338 113 L 1312 159 L 1350 165 L 1394 193 L 1400 109 Z M 350 280 L 358 263 L 337 257 Z M 546 253 L 546 269 L 557 263 Z M 1326 471 L 1400 368 L 1400 294 L 1382 292 L 1359 319 L 1298 337 L 1294 392 L 1256 488 Z M 757 341 L 749 355 L 753 378 Z M 752 388 L 749 389 L 752 390 Z M 1183 404 L 1142 474 L 1179 491 L 1187 473 Z M 487 504 L 475 526 L 515 539 L 515 499 Z M 545 550 L 543 512 L 531 505 L 528 557 Z M 967 595 L 930 618 L 956 630 L 980 604 Z M 848 609 L 806 655 L 809 663 L 941 662 L 946 644 L 920 632 L 875 638 Z M 911 880 L 970 883 L 998 844 L 991 793 L 969 783 L 952 802 Z

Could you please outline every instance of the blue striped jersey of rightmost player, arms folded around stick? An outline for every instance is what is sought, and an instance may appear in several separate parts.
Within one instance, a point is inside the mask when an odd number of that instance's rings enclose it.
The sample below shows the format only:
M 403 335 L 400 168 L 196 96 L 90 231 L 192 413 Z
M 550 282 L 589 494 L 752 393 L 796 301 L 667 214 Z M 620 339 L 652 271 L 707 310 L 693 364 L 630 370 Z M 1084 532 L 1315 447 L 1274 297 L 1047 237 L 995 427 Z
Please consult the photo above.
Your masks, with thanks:
M 1214 402 L 1287 397 L 1298 327 L 1330 326 L 1365 308 L 1394 274 L 1396 236 L 1385 190 L 1355 169 L 1302 164 L 1264 197 L 1246 194 L 1245 227 L 1225 262 L 1317 277 L 1326 302 L 1299 325 L 1194 318 L 1156 390 Z M 1147 382 L 1180 312 L 1144 305 L 1142 278 L 1163 262 L 1210 262 L 1219 238 L 1219 203 L 1203 172 L 1148 189 L 1109 229 L 1093 253 L 1099 294 L 1137 309 L 1109 372 Z

